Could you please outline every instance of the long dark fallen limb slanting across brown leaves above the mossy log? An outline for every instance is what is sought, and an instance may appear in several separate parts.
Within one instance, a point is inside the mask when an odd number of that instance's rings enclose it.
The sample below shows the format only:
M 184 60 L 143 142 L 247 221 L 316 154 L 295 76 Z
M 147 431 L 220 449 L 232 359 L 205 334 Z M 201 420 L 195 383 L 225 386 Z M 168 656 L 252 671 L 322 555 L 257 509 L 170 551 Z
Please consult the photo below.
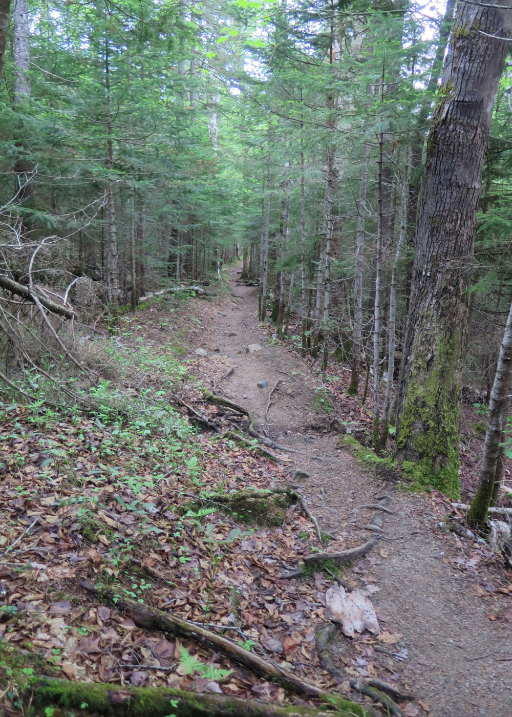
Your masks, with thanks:
M 355 715 L 361 717 L 366 715 L 364 708 L 360 705 L 343 700 L 339 695 L 323 690 L 317 687 L 317 685 L 300 680 L 300 678 L 288 672 L 288 670 L 284 670 L 278 665 L 270 663 L 263 657 L 256 655 L 255 652 L 245 650 L 241 645 L 238 645 L 237 642 L 228 640 L 227 637 L 216 635 L 214 632 L 206 630 L 199 625 L 194 625 L 194 623 L 188 620 L 181 619 L 171 612 L 162 612 L 154 607 L 148 607 L 148 605 L 128 600 L 113 590 L 97 588 L 87 582 L 80 582 L 80 587 L 96 595 L 101 602 L 109 604 L 114 609 L 122 612 L 126 617 L 132 619 L 136 625 L 143 627 L 145 630 L 164 632 L 167 635 L 174 635 L 174 637 L 191 640 L 198 645 L 209 648 L 209 650 L 218 650 L 224 657 L 232 660 L 232 662 L 248 668 L 252 673 L 260 675 L 262 678 L 265 678 L 265 680 L 280 684 L 285 690 L 289 690 L 295 695 L 303 695 L 306 698 L 331 703 L 342 712 L 346 711 L 350 713 L 350 710 L 352 710 Z

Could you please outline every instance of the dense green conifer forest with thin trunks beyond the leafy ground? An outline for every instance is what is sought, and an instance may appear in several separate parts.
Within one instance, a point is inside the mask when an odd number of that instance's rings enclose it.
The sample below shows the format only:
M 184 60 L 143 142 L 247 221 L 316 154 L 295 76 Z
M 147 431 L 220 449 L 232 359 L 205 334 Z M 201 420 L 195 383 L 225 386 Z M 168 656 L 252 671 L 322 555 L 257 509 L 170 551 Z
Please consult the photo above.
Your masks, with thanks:
M 17 365 L 14 385 L 27 391 L 27 362 L 44 371 L 42 307 L 70 319 L 74 307 L 103 306 L 115 318 L 148 290 L 204 280 L 240 252 L 242 277 L 259 282 L 260 318 L 270 313 L 280 335 L 298 318 L 303 353 L 351 366 L 349 394 L 373 405 L 374 450 L 391 450 L 398 408 L 395 458 L 413 482 L 458 496 L 463 388 L 485 411 L 511 302 L 511 81 L 505 50 L 485 62 L 506 37 L 484 32 L 490 21 L 466 16 L 469 5 L 447 54 L 452 0 L 441 11 L 402 0 L 4 1 L 0 284 L 36 305 L 23 315 L 11 298 L 2 304 L 4 381 L 13 385 Z M 489 146 L 486 128 L 460 165 L 475 165 L 474 206 L 450 199 L 464 178 L 439 186 L 451 204 L 435 217 L 427 270 L 421 212 L 437 190 L 426 182 L 421 194 L 425 141 L 430 130 L 428 171 L 437 120 L 473 102 L 455 97 L 450 75 L 450 58 L 471 46 L 483 81 L 496 75 Z M 468 135 L 458 119 L 450 146 Z M 458 166 L 457 151 L 445 162 Z M 39 346 L 27 351 L 29 336 Z

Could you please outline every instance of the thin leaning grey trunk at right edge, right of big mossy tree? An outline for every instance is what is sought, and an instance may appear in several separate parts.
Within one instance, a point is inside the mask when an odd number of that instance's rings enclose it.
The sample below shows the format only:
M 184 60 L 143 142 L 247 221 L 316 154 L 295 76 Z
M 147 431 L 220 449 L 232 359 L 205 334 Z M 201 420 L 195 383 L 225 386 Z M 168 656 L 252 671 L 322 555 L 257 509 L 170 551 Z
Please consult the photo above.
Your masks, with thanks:
M 503 424 L 508 409 L 508 394 L 512 384 L 512 305 L 508 313 L 503 341 L 501 342 L 498 368 L 490 391 L 487 430 L 483 444 L 482 467 L 475 498 L 468 513 L 470 526 L 481 528 L 487 518 L 490 501 L 493 498 L 496 468 L 500 453 Z

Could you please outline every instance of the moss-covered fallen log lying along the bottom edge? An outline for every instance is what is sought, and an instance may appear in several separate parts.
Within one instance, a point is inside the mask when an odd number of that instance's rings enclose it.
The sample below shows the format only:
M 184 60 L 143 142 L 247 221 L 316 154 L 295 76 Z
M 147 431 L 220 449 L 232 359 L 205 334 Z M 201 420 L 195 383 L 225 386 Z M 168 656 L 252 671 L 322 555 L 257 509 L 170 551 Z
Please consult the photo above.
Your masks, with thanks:
M 196 693 L 171 688 L 127 687 L 105 683 L 70 682 L 41 678 L 27 688 L 33 708 L 62 707 L 85 710 L 102 717 L 344 717 L 347 711 L 278 705 L 243 700 L 216 693 Z

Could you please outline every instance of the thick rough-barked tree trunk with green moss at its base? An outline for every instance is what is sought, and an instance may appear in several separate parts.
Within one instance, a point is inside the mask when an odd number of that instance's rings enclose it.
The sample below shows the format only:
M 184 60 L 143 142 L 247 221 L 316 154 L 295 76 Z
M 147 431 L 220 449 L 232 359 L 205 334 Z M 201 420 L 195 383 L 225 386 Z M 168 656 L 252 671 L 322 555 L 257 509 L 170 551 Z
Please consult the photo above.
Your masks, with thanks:
M 497 0 L 496 0 L 497 1 Z M 458 443 L 475 216 L 512 0 L 460 4 L 427 141 L 399 379 L 395 457 L 459 493 Z M 503 9 L 506 6 L 506 9 Z

